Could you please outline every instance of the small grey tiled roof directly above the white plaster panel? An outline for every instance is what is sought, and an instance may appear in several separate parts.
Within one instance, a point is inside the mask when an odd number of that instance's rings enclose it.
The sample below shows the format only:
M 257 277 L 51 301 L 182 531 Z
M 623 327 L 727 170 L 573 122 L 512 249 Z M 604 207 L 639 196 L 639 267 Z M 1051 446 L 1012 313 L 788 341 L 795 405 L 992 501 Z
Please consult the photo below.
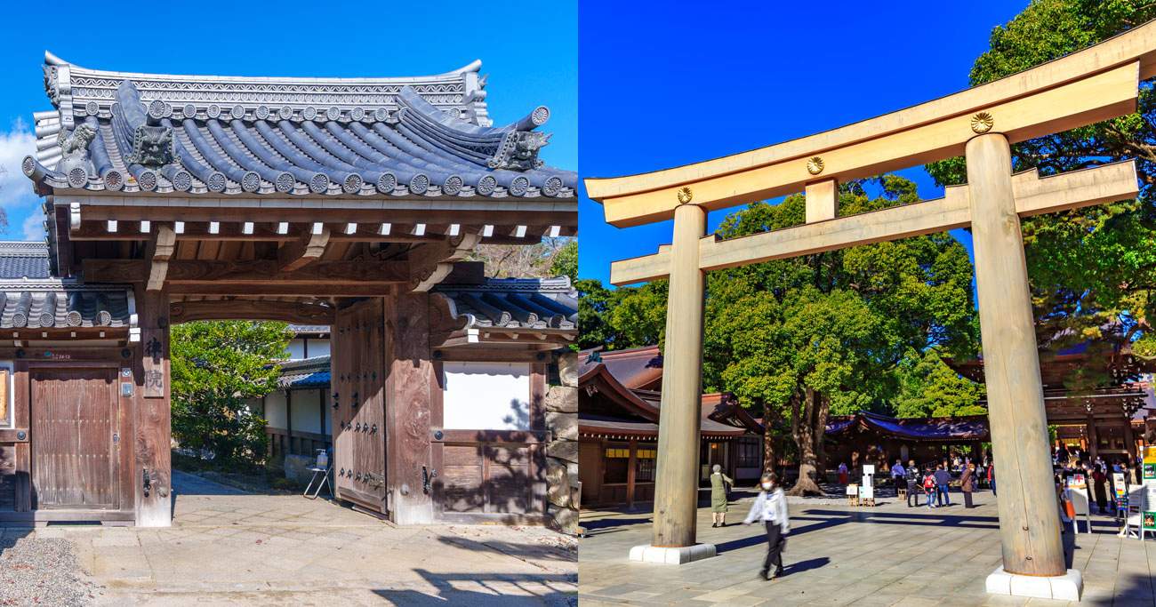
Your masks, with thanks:
M 576 330 L 578 294 L 568 276 L 554 279 L 486 279 L 479 284 L 439 284 L 433 293 L 449 301 L 454 318 L 470 327 Z

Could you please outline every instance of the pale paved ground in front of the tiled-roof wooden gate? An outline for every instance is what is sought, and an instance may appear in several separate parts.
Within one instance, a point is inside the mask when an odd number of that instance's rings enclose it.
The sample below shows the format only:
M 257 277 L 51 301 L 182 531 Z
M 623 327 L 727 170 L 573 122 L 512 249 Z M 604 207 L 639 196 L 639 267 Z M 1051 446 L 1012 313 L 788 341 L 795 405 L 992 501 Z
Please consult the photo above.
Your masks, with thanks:
M 398 527 L 173 472 L 171 528 L 46 527 L 105 605 L 569 605 L 575 553 L 538 527 Z M 9 530 L 28 533 L 27 530 Z

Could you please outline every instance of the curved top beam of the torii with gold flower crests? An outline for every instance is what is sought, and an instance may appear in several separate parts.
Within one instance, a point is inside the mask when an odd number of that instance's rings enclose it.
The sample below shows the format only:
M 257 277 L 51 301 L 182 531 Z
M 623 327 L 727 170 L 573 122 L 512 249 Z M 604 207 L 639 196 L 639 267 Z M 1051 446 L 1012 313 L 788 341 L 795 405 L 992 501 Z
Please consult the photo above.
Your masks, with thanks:
M 1154 58 L 1156 23 L 1147 23 L 1023 73 L 879 118 L 673 169 L 586 179 L 586 190 L 603 202 L 609 223 L 627 227 L 668 219 L 684 186 L 694 190 L 695 203 L 717 209 L 796 192 L 816 175 L 843 180 L 880 175 L 958 155 L 980 112 L 994 125 L 977 133 L 1003 133 L 1013 142 L 1132 113 Z M 821 165 L 808 171 L 808 160 L 816 157 Z

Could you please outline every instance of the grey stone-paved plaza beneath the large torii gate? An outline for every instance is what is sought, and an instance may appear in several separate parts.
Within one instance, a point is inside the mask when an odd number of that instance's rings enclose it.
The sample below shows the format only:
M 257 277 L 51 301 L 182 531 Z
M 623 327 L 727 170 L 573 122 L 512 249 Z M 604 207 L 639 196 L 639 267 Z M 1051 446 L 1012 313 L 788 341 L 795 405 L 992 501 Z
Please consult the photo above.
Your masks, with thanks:
M 1074 541 L 1070 525 L 1065 533 L 1070 562 L 1084 575 L 1081 602 L 986 594 L 984 580 L 1000 564 L 999 521 L 991 491 L 975 495 L 973 510 L 907 509 L 894 498 L 876 508 L 792 503 L 786 575 L 773 582 L 757 577 L 766 552 L 761 527 L 740 524 L 750 497 L 732 505 L 724 528 L 711 527 L 710 509 L 698 510 L 698 540 L 719 555 L 684 565 L 627 558 L 631 546 L 650 541 L 649 511 L 587 511 L 581 605 L 1156 605 L 1156 541 L 1118 538 L 1109 517 Z

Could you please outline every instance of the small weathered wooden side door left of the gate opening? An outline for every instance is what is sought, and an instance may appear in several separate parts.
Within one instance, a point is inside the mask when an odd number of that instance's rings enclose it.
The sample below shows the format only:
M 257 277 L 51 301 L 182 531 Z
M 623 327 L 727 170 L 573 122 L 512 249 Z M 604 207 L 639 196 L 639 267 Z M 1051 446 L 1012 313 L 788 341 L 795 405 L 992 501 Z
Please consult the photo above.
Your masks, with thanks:
M 119 508 L 116 369 L 37 369 L 30 378 L 35 508 Z

